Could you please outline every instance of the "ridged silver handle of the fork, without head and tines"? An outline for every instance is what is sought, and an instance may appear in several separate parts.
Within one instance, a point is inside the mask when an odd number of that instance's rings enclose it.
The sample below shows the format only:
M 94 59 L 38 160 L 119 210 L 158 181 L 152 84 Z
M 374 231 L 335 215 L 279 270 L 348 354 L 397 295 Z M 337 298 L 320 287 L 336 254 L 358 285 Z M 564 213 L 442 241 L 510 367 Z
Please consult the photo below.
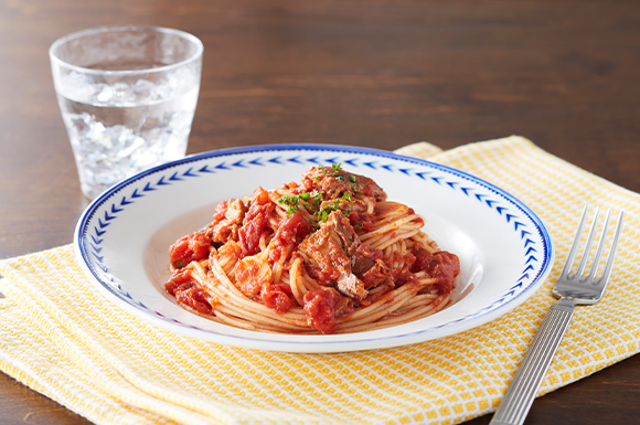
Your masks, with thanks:
M 573 315 L 573 299 L 561 298 L 553 304 L 490 425 L 522 425 L 524 423 Z

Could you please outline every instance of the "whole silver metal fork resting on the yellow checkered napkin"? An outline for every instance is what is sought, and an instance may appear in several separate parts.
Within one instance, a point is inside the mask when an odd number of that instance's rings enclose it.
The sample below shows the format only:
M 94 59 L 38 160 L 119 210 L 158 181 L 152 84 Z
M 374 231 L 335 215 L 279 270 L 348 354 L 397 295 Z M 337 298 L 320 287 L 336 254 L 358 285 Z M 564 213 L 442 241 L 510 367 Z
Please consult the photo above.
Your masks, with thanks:
M 607 211 L 600 242 L 596 248 L 590 272 L 588 275 L 585 275 L 591 243 L 594 242 L 594 235 L 596 233 L 598 213 L 599 209 L 596 209 L 580 263 L 576 273 L 572 274 L 570 272 L 576 259 L 576 253 L 578 251 L 583 227 L 587 216 L 587 206 L 583 210 L 583 216 L 576 232 L 576 237 L 572 244 L 569 256 L 557 279 L 555 288 L 553 289 L 553 295 L 559 299 L 554 302 L 547 312 L 546 318 L 529 348 L 529 351 L 526 352 L 518 373 L 513 378 L 506 394 L 502 397 L 500 406 L 498 407 L 495 415 L 493 415 L 490 425 L 521 425 L 524 422 L 529 408 L 540 390 L 540 384 L 546 374 L 548 365 L 551 364 L 565 331 L 569 326 L 574 315 L 574 307 L 576 305 L 596 304 L 602 298 L 605 288 L 607 287 L 611 275 L 611 268 L 614 267 L 614 258 L 616 256 L 616 247 L 618 245 L 623 213 L 620 212 L 620 215 L 618 216 L 618 223 L 616 224 L 616 230 L 614 232 L 614 241 L 611 242 L 609 256 L 602 270 L 602 275 L 600 278 L 596 278 L 598 264 L 605 248 L 605 238 L 609 226 L 610 211 Z

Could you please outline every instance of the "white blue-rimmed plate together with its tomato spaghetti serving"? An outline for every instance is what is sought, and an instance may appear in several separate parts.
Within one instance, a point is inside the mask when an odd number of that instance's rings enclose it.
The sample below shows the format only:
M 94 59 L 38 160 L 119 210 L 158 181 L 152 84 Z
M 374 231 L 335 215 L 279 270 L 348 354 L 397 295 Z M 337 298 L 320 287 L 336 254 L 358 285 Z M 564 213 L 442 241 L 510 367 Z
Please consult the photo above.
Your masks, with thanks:
M 126 311 L 211 342 L 391 348 L 487 323 L 553 266 L 521 201 L 429 161 L 337 145 L 216 150 L 104 192 L 78 262 Z

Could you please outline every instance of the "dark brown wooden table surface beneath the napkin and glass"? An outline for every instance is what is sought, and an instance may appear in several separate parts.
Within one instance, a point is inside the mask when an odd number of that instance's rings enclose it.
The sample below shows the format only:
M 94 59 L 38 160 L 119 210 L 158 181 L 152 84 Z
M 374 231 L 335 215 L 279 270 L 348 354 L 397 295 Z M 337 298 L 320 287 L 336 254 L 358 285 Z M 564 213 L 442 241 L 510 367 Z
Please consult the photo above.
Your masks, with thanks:
M 287 141 L 448 149 L 518 134 L 640 191 L 637 1 L 4 1 L 0 258 L 72 242 L 88 201 L 47 49 L 114 23 L 203 41 L 190 153 Z M 636 424 L 639 397 L 634 357 L 537 400 L 526 424 Z M 1 373 L 0 405 L 2 424 L 86 423 Z

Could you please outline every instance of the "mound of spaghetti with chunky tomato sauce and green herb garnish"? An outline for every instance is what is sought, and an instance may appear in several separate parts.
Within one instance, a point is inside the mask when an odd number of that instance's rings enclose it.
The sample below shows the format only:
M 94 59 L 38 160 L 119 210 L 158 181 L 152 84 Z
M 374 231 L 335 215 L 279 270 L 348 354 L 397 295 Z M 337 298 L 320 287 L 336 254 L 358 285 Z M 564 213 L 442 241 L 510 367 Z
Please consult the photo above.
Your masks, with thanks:
M 360 332 L 433 315 L 450 302 L 458 257 L 386 198 L 340 164 L 258 187 L 170 247 L 164 287 L 192 312 L 265 332 Z

